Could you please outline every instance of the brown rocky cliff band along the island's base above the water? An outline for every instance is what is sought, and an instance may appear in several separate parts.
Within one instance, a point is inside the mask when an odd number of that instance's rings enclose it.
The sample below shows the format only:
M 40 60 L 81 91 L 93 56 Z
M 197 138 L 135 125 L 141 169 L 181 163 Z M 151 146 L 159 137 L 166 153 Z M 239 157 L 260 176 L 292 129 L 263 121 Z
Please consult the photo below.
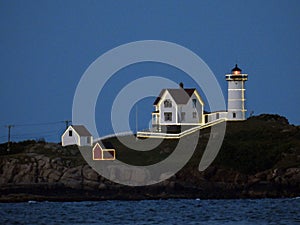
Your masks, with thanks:
M 168 179 L 141 189 L 106 180 L 88 165 L 69 168 L 61 157 L 51 159 L 34 154 L 30 157 L 27 155 L 26 159 L 1 159 L 0 201 L 26 199 L 26 194 L 32 198 L 37 193 L 39 198 L 69 200 L 76 199 L 78 193 L 85 193 L 88 196 L 86 199 L 261 198 L 300 195 L 300 168 L 297 167 L 266 170 L 254 175 L 217 166 L 211 166 L 200 173 L 188 167 L 171 177 L 162 174 L 161 178 Z M 150 176 L 143 169 L 134 173 L 125 168 L 122 171 L 115 167 L 108 169 L 111 176 L 122 181 L 134 177 L 137 182 L 141 182 Z M 46 189 L 51 191 L 44 196 Z M 7 200 L 7 194 L 11 196 L 12 193 L 15 197 Z

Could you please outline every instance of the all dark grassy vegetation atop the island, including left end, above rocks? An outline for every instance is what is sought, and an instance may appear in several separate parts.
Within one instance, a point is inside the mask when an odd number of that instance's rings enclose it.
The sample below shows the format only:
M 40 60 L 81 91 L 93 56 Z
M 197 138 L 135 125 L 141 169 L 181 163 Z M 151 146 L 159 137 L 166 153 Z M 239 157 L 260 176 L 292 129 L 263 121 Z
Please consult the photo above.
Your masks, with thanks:
M 197 167 L 208 141 L 210 129 L 201 131 L 196 151 L 187 167 Z M 128 137 L 130 138 L 130 137 Z M 132 137 L 131 137 L 132 138 Z M 168 157 L 178 140 L 164 140 L 151 151 L 135 151 L 122 144 L 116 137 L 105 140 L 107 148 L 117 150 L 117 159 L 132 165 L 151 165 Z M 138 143 L 138 142 L 137 142 Z M 28 153 L 61 158 L 69 166 L 86 162 L 76 146 L 28 140 L 0 145 L 1 157 L 19 158 L 26 162 Z M 244 174 L 255 174 L 272 168 L 300 167 L 300 127 L 290 125 L 286 118 L 263 114 L 247 121 L 228 122 L 222 148 L 213 165 L 230 168 Z

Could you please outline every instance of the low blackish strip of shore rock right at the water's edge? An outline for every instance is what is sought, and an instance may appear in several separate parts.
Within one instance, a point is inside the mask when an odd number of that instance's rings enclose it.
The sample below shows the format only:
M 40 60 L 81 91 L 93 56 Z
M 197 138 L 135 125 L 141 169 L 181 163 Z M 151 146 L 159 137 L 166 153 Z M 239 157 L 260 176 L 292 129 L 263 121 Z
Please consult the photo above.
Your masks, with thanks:
M 297 186 L 283 185 L 244 185 L 203 183 L 201 187 L 183 187 L 180 184 L 165 184 L 129 187 L 110 185 L 102 190 L 72 189 L 63 184 L 19 184 L 0 186 L 0 203 L 28 201 L 141 201 L 166 199 L 265 199 L 265 198 L 296 198 L 300 196 Z

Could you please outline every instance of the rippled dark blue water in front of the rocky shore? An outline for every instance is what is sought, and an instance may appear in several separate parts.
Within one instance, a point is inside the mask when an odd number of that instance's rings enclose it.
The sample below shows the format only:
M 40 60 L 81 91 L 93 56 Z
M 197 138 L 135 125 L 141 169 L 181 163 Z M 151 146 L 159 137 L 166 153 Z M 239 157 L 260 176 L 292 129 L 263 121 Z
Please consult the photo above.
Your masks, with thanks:
M 300 198 L 1 203 L 0 224 L 300 224 Z

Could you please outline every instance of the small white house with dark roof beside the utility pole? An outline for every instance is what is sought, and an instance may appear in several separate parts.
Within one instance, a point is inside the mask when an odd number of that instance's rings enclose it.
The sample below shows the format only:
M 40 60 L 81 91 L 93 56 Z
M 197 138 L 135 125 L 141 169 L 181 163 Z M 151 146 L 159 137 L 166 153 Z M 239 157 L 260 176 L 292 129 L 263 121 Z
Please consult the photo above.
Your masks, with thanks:
M 61 137 L 62 146 L 78 145 L 92 146 L 93 137 L 83 125 L 71 125 Z

